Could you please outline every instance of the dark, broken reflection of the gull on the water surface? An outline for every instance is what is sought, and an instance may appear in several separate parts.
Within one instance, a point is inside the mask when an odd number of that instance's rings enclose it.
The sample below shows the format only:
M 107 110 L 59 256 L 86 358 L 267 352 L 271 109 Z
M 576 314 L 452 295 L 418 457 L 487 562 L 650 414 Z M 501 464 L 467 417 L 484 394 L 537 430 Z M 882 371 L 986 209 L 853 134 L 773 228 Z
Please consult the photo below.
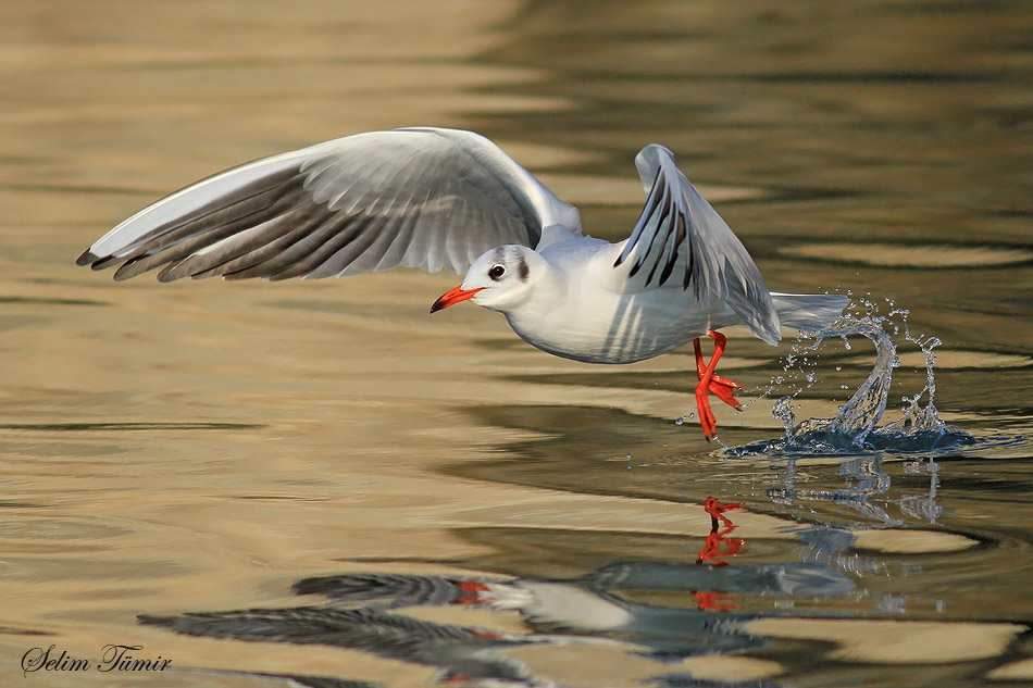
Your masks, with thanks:
M 361 650 L 437 667 L 437 679 L 453 685 L 557 686 L 507 656 L 508 651 L 597 645 L 657 662 L 657 675 L 649 680 L 655 686 L 770 686 L 757 680 L 698 680 L 665 670 L 685 658 L 743 653 L 766 645 L 767 639 L 750 633 L 747 624 L 773 613 L 735 611 L 737 593 L 838 597 L 851 593 L 855 585 L 824 562 L 729 561 L 743 545 L 730 537 L 735 525 L 725 515 L 737 506 L 708 500 L 712 529 L 694 563 L 621 562 L 568 579 L 349 573 L 304 578 L 293 586 L 297 595 L 324 597 L 324 604 L 139 618 L 191 636 Z M 673 595 L 675 604 L 635 602 L 622 596 L 625 591 Z M 685 593 L 684 605 L 676 604 L 680 592 Z M 528 631 L 435 623 L 399 611 L 447 605 L 516 611 Z M 281 678 L 313 688 L 371 685 L 325 677 Z

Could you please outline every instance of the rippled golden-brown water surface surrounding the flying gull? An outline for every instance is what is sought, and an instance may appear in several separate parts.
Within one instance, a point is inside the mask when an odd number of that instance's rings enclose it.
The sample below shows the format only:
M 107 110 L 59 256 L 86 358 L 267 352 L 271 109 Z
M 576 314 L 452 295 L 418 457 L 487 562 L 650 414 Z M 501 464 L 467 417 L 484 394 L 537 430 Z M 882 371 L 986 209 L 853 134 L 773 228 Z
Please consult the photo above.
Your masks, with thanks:
M 1033 680 L 1021 3 L 0 17 L 4 685 Z M 882 312 L 795 351 L 730 329 L 746 408 L 708 443 L 675 422 L 689 350 L 561 361 L 478 309 L 428 317 L 452 276 L 73 264 L 216 170 L 411 124 L 498 140 L 610 239 L 661 142 L 772 288 Z M 63 668 L 23 668 L 50 646 Z

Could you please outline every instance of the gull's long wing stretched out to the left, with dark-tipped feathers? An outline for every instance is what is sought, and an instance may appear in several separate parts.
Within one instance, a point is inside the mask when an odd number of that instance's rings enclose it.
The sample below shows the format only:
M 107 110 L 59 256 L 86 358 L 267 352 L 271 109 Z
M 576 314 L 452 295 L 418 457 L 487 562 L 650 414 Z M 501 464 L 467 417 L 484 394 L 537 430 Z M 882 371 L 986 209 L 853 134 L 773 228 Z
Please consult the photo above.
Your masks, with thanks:
M 264 158 L 173 193 L 78 259 L 115 279 L 328 277 L 396 265 L 463 274 L 577 211 L 488 139 L 431 127 L 373 132 Z

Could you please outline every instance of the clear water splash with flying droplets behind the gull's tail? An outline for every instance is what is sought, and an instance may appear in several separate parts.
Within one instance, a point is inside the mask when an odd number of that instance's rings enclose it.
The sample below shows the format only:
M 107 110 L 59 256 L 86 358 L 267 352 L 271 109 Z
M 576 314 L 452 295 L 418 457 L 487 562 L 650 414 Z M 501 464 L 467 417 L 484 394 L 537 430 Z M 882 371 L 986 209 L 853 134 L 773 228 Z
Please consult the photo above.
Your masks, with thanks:
M 785 435 L 777 440 L 755 442 L 740 448 L 727 448 L 732 455 L 757 455 L 772 453 L 792 454 L 839 454 L 869 451 L 896 452 L 942 452 L 961 446 L 974 445 L 975 438 L 964 430 L 945 424 L 936 412 L 934 398 L 936 384 L 934 350 L 943 342 L 936 337 L 912 336 L 907 325 L 908 311 L 893 308 L 886 315 L 879 313 L 878 307 L 867 299 L 860 299 L 859 305 L 868 309 L 861 314 L 848 313 L 837 318 L 821 332 L 807 339 L 798 339 L 794 353 L 786 358 L 785 375 L 772 380 L 776 385 L 796 383 L 793 393 L 780 398 L 772 414 L 785 426 Z M 918 346 L 925 355 L 925 386 L 913 397 L 905 396 L 903 415 L 898 421 L 879 426 L 889 399 L 893 373 L 900 365 L 897 358 L 897 343 L 893 336 L 900 334 L 900 323 L 894 316 L 901 316 L 904 337 Z M 893 334 L 891 334 L 891 330 Z M 850 349 L 848 337 L 863 336 L 875 346 L 875 364 L 868 378 L 858 387 L 849 401 L 839 406 L 832 418 L 807 418 L 797 423 L 793 411 L 796 397 L 817 381 L 812 370 L 813 359 L 819 347 L 826 339 L 838 338 L 845 349 Z M 802 376 L 802 380 L 800 377 Z M 926 399 L 924 405 L 922 400 Z

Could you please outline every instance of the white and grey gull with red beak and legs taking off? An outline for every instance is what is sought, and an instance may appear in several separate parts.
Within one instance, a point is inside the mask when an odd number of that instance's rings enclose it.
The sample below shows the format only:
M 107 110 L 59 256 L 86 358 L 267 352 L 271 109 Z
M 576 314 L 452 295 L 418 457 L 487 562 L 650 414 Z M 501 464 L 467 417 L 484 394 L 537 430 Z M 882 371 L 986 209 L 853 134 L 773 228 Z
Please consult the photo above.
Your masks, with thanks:
M 79 265 L 117 264 L 116 280 L 161 267 L 160 282 L 345 277 L 396 265 L 465 277 L 431 307 L 470 301 L 506 316 L 534 347 L 587 363 L 634 363 L 693 342 L 699 421 L 709 395 L 740 409 L 714 372 L 745 325 L 775 346 L 781 326 L 817 332 L 842 295 L 769 291 L 742 242 L 675 166 L 646 146 L 646 195 L 631 236 L 582 233 L 577 209 L 473 132 L 408 127 L 263 158 L 197 182 L 98 239 Z M 700 338 L 714 341 L 705 361 Z

